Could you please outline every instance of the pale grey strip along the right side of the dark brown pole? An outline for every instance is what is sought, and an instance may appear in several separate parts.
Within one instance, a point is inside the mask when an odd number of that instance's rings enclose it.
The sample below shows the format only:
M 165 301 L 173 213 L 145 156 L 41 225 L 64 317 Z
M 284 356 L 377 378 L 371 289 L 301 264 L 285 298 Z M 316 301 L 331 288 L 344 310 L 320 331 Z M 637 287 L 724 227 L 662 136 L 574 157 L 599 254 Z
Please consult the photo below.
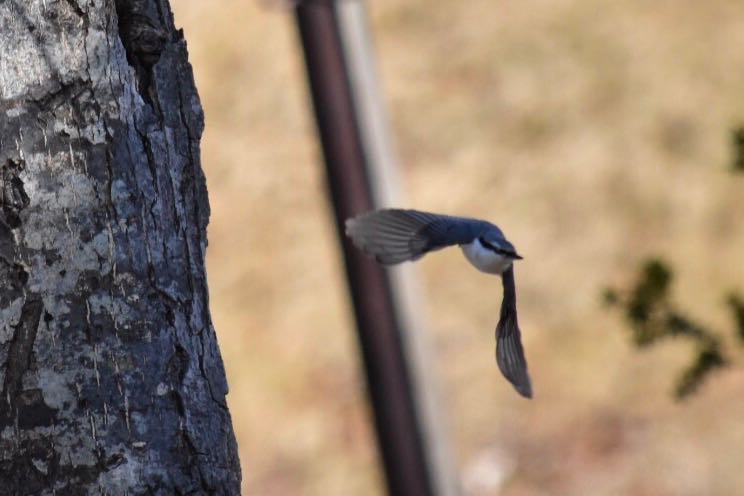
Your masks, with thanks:
M 351 84 L 354 111 L 367 161 L 367 177 L 375 208 L 405 205 L 390 136 L 385 101 L 377 78 L 372 36 L 364 0 L 336 2 L 341 45 Z M 461 493 L 446 429 L 446 409 L 436 376 L 436 357 L 414 264 L 386 271 L 401 330 L 403 352 L 411 377 L 424 452 L 433 491 L 439 496 Z

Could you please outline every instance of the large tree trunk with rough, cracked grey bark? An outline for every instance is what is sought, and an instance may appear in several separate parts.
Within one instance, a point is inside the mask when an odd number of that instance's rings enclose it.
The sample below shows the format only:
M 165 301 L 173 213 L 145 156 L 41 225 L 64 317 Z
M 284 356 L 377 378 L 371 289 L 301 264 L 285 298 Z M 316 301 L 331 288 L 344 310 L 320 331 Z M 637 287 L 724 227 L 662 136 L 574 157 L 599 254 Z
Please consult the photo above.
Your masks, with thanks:
M 237 494 L 167 0 L 0 0 L 2 494 Z

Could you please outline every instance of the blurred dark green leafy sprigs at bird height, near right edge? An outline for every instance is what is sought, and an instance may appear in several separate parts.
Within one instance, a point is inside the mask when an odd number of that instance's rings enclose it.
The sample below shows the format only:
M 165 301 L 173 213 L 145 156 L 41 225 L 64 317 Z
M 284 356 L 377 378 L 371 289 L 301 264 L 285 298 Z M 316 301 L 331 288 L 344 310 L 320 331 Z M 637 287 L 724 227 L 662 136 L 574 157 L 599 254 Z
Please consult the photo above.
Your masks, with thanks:
M 633 342 L 639 348 L 662 338 L 681 337 L 694 343 L 692 363 L 677 380 L 674 394 L 678 399 L 694 392 L 708 375 L 727 365 L 720 339 L 702 324 L 685 315 L 669 296 L 673 274 L 661 259 L 646 261 L 638 279 L 628 290 L 605 289 L 606 304 L 621 308 L 630 326 Z M 737 336 L 744 344 L 744 300 L 732 294 L 728 304 L 734 312 Z

